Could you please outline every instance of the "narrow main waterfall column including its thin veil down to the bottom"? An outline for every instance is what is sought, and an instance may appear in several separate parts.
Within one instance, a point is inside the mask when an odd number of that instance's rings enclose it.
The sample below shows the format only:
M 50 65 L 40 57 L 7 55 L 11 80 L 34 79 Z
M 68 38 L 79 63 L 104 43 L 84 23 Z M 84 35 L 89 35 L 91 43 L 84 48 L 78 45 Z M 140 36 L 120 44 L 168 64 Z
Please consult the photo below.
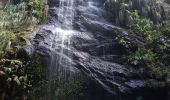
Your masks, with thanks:
M 52 29 L 54 38 L 52 40 L 51 61 L 49 66 L 49 83 L 47 100 L 65 100 L 68 97 L 61 96 L 69 92 L 70 81 L 79 77 L 78 70 L 72 67 L 71 37 L 75 33 L 73 30 L 74 3 L 75 0 L 59 0 L 57 11 L 57 22 Z M 67 94 L 67 93 L 65 93 Z M 73 99 L 74 97 L 72 97 Z

